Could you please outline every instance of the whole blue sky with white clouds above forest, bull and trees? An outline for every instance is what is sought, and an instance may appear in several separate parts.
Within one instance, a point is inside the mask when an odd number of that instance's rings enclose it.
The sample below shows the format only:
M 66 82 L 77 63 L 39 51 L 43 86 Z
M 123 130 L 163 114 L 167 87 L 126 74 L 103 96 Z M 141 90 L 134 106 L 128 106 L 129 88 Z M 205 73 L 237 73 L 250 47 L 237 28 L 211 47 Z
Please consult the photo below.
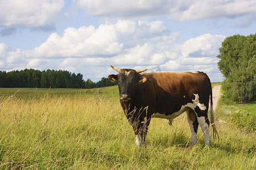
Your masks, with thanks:
M 0 70 L 204 71 L 225 37 L 256 33 L 255 0 L 0 0 Z

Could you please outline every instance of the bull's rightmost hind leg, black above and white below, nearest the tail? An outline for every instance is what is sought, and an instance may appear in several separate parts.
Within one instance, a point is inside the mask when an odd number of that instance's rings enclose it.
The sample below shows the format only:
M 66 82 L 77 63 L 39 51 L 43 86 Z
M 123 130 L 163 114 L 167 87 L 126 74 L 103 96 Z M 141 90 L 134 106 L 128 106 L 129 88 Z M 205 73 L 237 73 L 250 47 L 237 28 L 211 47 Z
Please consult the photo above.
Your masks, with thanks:
M 209 118 L 207 115 L 208 109 L 205 109 L 205 111 L 201 111 L 199 108 L 196 108 L 196 113 L 197 113 L 197 121 L 199 122 L 199 125 L 204 133 L 204 142 L 205 146 L 210 145 L 210 122 Z

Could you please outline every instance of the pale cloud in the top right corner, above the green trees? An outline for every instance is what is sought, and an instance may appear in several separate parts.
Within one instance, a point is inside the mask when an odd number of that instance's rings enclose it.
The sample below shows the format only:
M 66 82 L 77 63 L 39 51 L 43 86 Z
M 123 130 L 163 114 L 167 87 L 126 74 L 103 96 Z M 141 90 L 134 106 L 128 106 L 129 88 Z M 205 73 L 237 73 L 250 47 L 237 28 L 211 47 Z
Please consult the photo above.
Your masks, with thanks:
M 181 21 L 207 18 L 236 18 L 241 15 L 250 15 L 251 13 L 256 13 L 256 3 L 253 0 L 195 0 L 185 10 L 172 12 L 170 18 Z

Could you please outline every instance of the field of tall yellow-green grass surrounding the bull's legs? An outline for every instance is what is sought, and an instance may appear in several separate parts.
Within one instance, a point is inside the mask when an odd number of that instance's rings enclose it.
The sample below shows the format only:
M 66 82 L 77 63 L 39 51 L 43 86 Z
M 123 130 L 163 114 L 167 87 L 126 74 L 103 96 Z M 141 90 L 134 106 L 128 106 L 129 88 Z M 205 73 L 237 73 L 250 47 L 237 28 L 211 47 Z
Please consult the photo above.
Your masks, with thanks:
M 152 119 L 147 147 L 136 147 L 117 86 L 0 88 L 0 96 L 0 169 L 256 168 L 255 133 L 218 124 L 220 141 L 211 135 L 205 147 L 199 130 L 199 142 L 189 147 L 185 114 L 173 126 Z

